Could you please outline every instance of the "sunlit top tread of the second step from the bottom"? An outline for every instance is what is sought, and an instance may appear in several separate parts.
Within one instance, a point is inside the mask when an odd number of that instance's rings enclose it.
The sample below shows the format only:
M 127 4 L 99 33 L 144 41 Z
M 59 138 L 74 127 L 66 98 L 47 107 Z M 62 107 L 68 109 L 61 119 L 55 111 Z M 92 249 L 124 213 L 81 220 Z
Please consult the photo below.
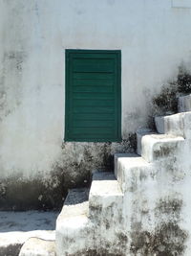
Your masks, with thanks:
M 99 172 L 93 175 L 90 197 L 121 196 L 118 181 L 113 173 Z

